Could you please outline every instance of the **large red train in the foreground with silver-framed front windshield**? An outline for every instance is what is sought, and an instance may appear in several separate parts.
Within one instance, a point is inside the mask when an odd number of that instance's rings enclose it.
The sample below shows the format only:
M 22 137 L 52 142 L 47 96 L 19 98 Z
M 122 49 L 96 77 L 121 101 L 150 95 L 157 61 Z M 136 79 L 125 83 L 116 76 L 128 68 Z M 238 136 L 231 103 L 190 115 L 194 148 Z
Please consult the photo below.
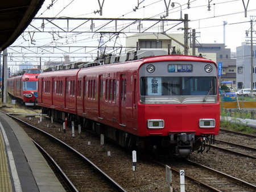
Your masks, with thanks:
M 38 105 L 53 118 L 67 116 L 119 145 L 188 157 L 219 132 L 217 65 L 152 53 L 41 73 Z

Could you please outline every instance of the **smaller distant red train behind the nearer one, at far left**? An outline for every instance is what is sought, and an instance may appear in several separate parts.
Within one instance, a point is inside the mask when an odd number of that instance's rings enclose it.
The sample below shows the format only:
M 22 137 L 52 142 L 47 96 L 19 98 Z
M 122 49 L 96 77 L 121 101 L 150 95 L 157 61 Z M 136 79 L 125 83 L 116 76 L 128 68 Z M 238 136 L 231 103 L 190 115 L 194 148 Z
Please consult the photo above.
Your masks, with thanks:
M 26 106 L 34 106 L 38 97 L 38 76 L 40 73 L 42 73 L 41 69 L 28 69 L 24 74 L 8 78 L 8 94 Z

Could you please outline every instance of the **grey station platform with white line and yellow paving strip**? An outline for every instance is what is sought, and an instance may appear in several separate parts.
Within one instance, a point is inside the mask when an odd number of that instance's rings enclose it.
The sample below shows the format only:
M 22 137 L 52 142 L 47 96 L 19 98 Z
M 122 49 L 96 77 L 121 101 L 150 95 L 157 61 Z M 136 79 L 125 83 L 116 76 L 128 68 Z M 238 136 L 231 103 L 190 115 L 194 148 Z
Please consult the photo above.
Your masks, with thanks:
M 0 111 L 0 192 L 65 191 L 27 133 Z

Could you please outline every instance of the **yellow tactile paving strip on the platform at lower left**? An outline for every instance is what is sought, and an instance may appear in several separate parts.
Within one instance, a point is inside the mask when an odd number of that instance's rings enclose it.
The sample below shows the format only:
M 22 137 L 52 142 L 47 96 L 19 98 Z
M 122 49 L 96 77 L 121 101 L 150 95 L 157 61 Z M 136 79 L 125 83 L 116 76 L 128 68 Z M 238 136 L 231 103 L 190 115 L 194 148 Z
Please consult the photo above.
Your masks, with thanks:
M 11 188 L 11 180 L 7 165 L 5 145 L 3 144 L 3 136 L 0 130 L 0 192 L 2 191 L 11 192 L 13 190 Z

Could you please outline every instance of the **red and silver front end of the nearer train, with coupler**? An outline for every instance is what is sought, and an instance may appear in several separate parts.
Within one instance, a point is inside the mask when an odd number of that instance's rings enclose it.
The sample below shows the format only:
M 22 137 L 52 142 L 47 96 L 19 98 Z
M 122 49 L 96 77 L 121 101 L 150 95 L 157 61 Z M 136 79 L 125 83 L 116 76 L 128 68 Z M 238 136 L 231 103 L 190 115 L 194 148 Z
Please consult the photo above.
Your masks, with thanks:
M 148 136 L 155 146 L 171 143 L 175 155 L 188 156 L 218 134 L 214 62 L 191 56 L 147 58 L 139 80 L 137 135 Z

